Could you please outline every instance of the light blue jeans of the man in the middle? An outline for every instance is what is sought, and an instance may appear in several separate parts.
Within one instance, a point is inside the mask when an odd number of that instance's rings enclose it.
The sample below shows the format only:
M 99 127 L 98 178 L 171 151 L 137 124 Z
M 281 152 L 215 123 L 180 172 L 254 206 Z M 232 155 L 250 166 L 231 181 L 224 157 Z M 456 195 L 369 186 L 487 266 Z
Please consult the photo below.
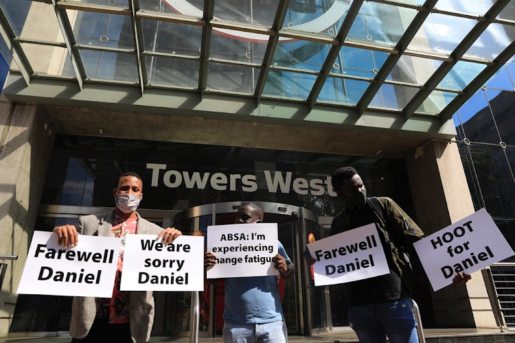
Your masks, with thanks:
M 264 324 L 225 322 L 224 343 L 288 343 L 288 331 L 282 320 Z

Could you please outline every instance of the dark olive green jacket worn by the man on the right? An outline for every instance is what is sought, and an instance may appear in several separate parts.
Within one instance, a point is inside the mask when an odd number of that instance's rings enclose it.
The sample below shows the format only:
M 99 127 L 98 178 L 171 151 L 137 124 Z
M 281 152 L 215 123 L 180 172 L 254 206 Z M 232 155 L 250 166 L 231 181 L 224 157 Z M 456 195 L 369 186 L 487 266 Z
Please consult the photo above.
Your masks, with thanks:
M 383 243 L 385 255 L 387 260 L 396 266 L 404 287 L 411 292 L 412 270 L 409 254 L 414 253 L 413 242 L 424 237 L 424 233 L 391 198 L 381 197 L 378 200 L 382 207 L 382 216 L 373 211 L 373 219 L 376 224 L 380 225 L 384 233 L 382 235 L 379 232 L 379 237 Z M 367 198 L 367 206 L 373 209 L 370 201 L 370 198 Z M 349 221 L 345 218 L 345 211 L 341 211 L 332 220 L 331 235 L 351 229 Z M 385 244 L 385 239 L 382 236 L 385 236 L 386 241 L 389 241 L 390 255 L 386 248 L 387 243 Z

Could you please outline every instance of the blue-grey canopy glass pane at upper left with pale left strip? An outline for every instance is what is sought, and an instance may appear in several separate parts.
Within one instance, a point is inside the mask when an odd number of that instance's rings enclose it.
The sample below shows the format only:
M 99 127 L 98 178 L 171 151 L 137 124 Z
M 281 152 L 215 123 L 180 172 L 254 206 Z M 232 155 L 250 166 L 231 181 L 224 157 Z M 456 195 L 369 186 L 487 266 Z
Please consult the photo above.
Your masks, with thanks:
M 130 16 L 68 10 L 68 19 L 78 44 L 93 47 L 134 49 Z

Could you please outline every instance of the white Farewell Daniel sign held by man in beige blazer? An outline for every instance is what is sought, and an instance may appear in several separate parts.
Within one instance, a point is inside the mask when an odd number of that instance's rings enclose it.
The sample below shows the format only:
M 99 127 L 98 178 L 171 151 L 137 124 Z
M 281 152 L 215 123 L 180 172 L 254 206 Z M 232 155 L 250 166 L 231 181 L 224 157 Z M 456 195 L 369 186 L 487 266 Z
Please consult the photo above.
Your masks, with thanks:
M 80 235 L 77 246 L 65 249 L 57 239 L 34 231 L 18 294 L 111 298 L 120 240 Z

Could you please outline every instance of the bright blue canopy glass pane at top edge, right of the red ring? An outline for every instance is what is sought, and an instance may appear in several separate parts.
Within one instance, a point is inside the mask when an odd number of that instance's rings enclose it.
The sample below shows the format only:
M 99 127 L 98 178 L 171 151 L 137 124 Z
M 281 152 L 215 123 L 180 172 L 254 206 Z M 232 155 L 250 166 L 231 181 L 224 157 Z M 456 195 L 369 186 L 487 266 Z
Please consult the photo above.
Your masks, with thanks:
M 416 14 L 409 8 L 365 1 L 347 38 L 396 45 Z

